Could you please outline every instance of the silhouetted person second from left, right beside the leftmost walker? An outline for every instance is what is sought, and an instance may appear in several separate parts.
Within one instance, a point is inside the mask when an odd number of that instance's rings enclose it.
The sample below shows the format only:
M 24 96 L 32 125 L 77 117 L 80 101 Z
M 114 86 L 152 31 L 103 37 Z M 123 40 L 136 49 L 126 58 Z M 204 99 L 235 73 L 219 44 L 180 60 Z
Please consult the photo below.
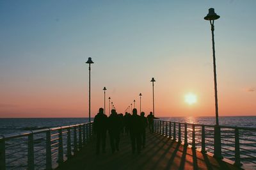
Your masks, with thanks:
M 112 153 L 115 153 L 115 151 L 119 151 L 120 127 L 120 117 L 116 113 L 115 109 L 112 109 L 111 114 L 108 118 L 108 132 Z

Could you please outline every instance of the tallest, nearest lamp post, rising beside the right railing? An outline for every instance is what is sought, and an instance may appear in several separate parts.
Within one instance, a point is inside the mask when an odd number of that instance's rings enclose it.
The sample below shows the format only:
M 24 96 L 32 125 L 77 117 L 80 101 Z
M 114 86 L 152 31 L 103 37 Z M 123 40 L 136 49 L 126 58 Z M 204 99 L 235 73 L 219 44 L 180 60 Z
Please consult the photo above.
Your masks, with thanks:
M 215 47 L 214 47 L 214 20 L 220 19 L 220 16 L 214 12 L 214 8 L 209 8 L 209 13 L 204 17 L 205 20 L 209 20 L 212 31 L 212 57 L 213 57 L 213 72 L 214 72 L 214 97 L 215 97 L 215 116 L 216 125 L 214 127 L 214 157 L 222 158 L 221 156 L 221 137 L 219 127 L 219 112 L 218 112 L 218 93 L 217 93 L 217 77 L 216 77 L 216 59 L 215 59 Z

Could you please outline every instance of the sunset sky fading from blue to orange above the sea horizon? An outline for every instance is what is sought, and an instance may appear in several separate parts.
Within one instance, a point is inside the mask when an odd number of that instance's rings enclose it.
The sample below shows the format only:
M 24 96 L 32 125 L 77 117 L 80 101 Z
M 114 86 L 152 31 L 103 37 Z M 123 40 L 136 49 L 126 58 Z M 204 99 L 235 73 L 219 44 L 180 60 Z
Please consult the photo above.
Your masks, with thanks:
M 256 1 L 1 1 L 0 118 L 92 116 L 103 88 L 117 112 L 214 116 L 209 8 L 220 116 L 256 116 Z M 196 102 L 186 102 L 189 94 Z M 108 114 L 108 100 L 106 100 Z

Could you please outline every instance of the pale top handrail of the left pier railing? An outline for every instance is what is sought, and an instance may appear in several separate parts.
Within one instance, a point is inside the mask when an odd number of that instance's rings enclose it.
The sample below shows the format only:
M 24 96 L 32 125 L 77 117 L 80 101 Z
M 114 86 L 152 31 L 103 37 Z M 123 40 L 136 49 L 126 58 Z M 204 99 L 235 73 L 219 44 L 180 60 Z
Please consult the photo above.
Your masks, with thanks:
M 25 137 L 25 136 L 28 136 L 29 134 L 39 134 L 39 133 L 47 132 L 48 130 L 52 131 L 52 130 L 78 127 L 80 125 L 86 125 L 88 123 L 93 123 L 93 121 L 86 122 L 86 123 L 79 123 L 79 124 L 75 124 L 75 125 L 68 125 L 68 126 L 63 126 L 63 127 L 61 126 L 61 127 L 52 127 L 52 128 L 42 128 L 42 129 L 38 129 L 38 130 L 26 130 L 24 132 L 18 132 L 18 133 L 7 134 L 7 135 L 2 135 L 1 134 L 0 135 L 0 141 L 3 141 L 3 140 L 5 141 L 5 140 L 17 138 L 17 137 Z

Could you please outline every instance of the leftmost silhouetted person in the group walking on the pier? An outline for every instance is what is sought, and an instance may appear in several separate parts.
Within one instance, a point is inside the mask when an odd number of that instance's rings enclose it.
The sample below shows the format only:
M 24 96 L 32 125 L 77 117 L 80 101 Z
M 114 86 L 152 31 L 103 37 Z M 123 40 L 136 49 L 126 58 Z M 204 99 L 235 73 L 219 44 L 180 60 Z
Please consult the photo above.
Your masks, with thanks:
M 97 136 L 96 154 L 100 153 L 100 142 L 102 142 L 102 153 L 106 153 L 106 133 L 108 128 L 108 116 L 104 114 L 104 109 L 100 108 L 99 113 L 93 121 L 93 130 Z

